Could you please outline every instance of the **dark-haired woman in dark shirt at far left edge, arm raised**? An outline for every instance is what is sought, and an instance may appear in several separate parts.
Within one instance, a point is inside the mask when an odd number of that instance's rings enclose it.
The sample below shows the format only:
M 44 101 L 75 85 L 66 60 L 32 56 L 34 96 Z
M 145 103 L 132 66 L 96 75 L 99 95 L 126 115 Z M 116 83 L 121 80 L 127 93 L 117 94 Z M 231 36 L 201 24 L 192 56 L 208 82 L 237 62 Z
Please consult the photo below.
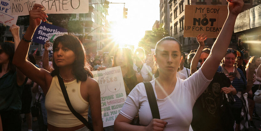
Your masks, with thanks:
M 21 94 L 27 78 L 12 63 L 14 52 L 20 42 L 19 26 L 13 25 L 9 30 L 13 35 L 14 44 L 0 43 L 0 115 L 3 131 L 19 131 L 22 123 L 20 116 Z

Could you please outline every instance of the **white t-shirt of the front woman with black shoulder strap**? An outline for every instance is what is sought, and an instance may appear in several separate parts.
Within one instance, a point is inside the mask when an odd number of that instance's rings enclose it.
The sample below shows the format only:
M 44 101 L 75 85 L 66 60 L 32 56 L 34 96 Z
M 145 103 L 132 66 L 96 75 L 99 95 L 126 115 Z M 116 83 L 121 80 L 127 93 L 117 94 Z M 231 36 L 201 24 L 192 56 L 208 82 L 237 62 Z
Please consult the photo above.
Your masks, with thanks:
M 207 80 L 200 68 L 186 80 L 177 78 L 173 92 L 164 99 L 157 98 L 155 80 L 150 82 L 157 99 L 160 118 L 168 122 L 164 131 L 188 131 L 193 105 L 212 80 Z M 120 114 L 130 120 L 133 120 L 137 113 L 143 126 L 147 126 L 153 119 L 143 83 L 134 87 L 120 111 Z

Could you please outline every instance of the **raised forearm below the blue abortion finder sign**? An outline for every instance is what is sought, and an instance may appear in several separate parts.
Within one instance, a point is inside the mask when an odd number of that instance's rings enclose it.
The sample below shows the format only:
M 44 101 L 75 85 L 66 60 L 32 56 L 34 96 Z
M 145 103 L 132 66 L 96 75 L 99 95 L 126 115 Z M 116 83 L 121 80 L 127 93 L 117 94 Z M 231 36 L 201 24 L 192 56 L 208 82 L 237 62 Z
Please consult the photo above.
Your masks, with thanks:
M 43 53 L 43 69 L 52 72 L 53 71 L 53 67 L 51 67 L 49 65 L 49 50 L 48 47 L 50 46 L 50 44 L 48 43 L 49 40 L 47 40 L 44 44 L 44 53 Z

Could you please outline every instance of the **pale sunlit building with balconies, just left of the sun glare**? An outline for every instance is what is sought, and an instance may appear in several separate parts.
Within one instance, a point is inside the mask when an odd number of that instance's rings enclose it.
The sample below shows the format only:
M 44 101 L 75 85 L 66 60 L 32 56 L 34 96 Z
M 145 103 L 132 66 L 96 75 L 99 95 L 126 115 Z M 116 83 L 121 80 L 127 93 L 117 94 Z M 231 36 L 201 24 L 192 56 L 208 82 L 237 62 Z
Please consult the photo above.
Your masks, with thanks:
M 72 14 L 70 20 L 83 22 L 83 45 L 87 53 L 101 55 L 105 46 L 108 32 L 106 15 L 108 10 L 103 7 L 104 0 L 89 0 L 89 13 Z

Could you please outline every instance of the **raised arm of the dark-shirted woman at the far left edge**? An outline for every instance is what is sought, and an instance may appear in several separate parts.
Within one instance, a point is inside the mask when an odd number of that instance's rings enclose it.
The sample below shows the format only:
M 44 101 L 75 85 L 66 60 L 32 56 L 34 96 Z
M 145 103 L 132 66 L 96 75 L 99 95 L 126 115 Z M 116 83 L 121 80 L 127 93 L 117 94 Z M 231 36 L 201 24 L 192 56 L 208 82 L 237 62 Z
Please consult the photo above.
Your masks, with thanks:
M 19 45 L 19 42 L 20 42 L 19 28 L 20 27 L 15 24 L 13 24 L 9 28 L 9 31 L 12 33 L 13 39 L 14 39 L 14 51 L 16 51 L 16 49 Z M 18 68 L 16 68 L 16 82 L 17 82 L 18 86 L 23 85 L 25 78 L 26 78 L 26 76 Z

